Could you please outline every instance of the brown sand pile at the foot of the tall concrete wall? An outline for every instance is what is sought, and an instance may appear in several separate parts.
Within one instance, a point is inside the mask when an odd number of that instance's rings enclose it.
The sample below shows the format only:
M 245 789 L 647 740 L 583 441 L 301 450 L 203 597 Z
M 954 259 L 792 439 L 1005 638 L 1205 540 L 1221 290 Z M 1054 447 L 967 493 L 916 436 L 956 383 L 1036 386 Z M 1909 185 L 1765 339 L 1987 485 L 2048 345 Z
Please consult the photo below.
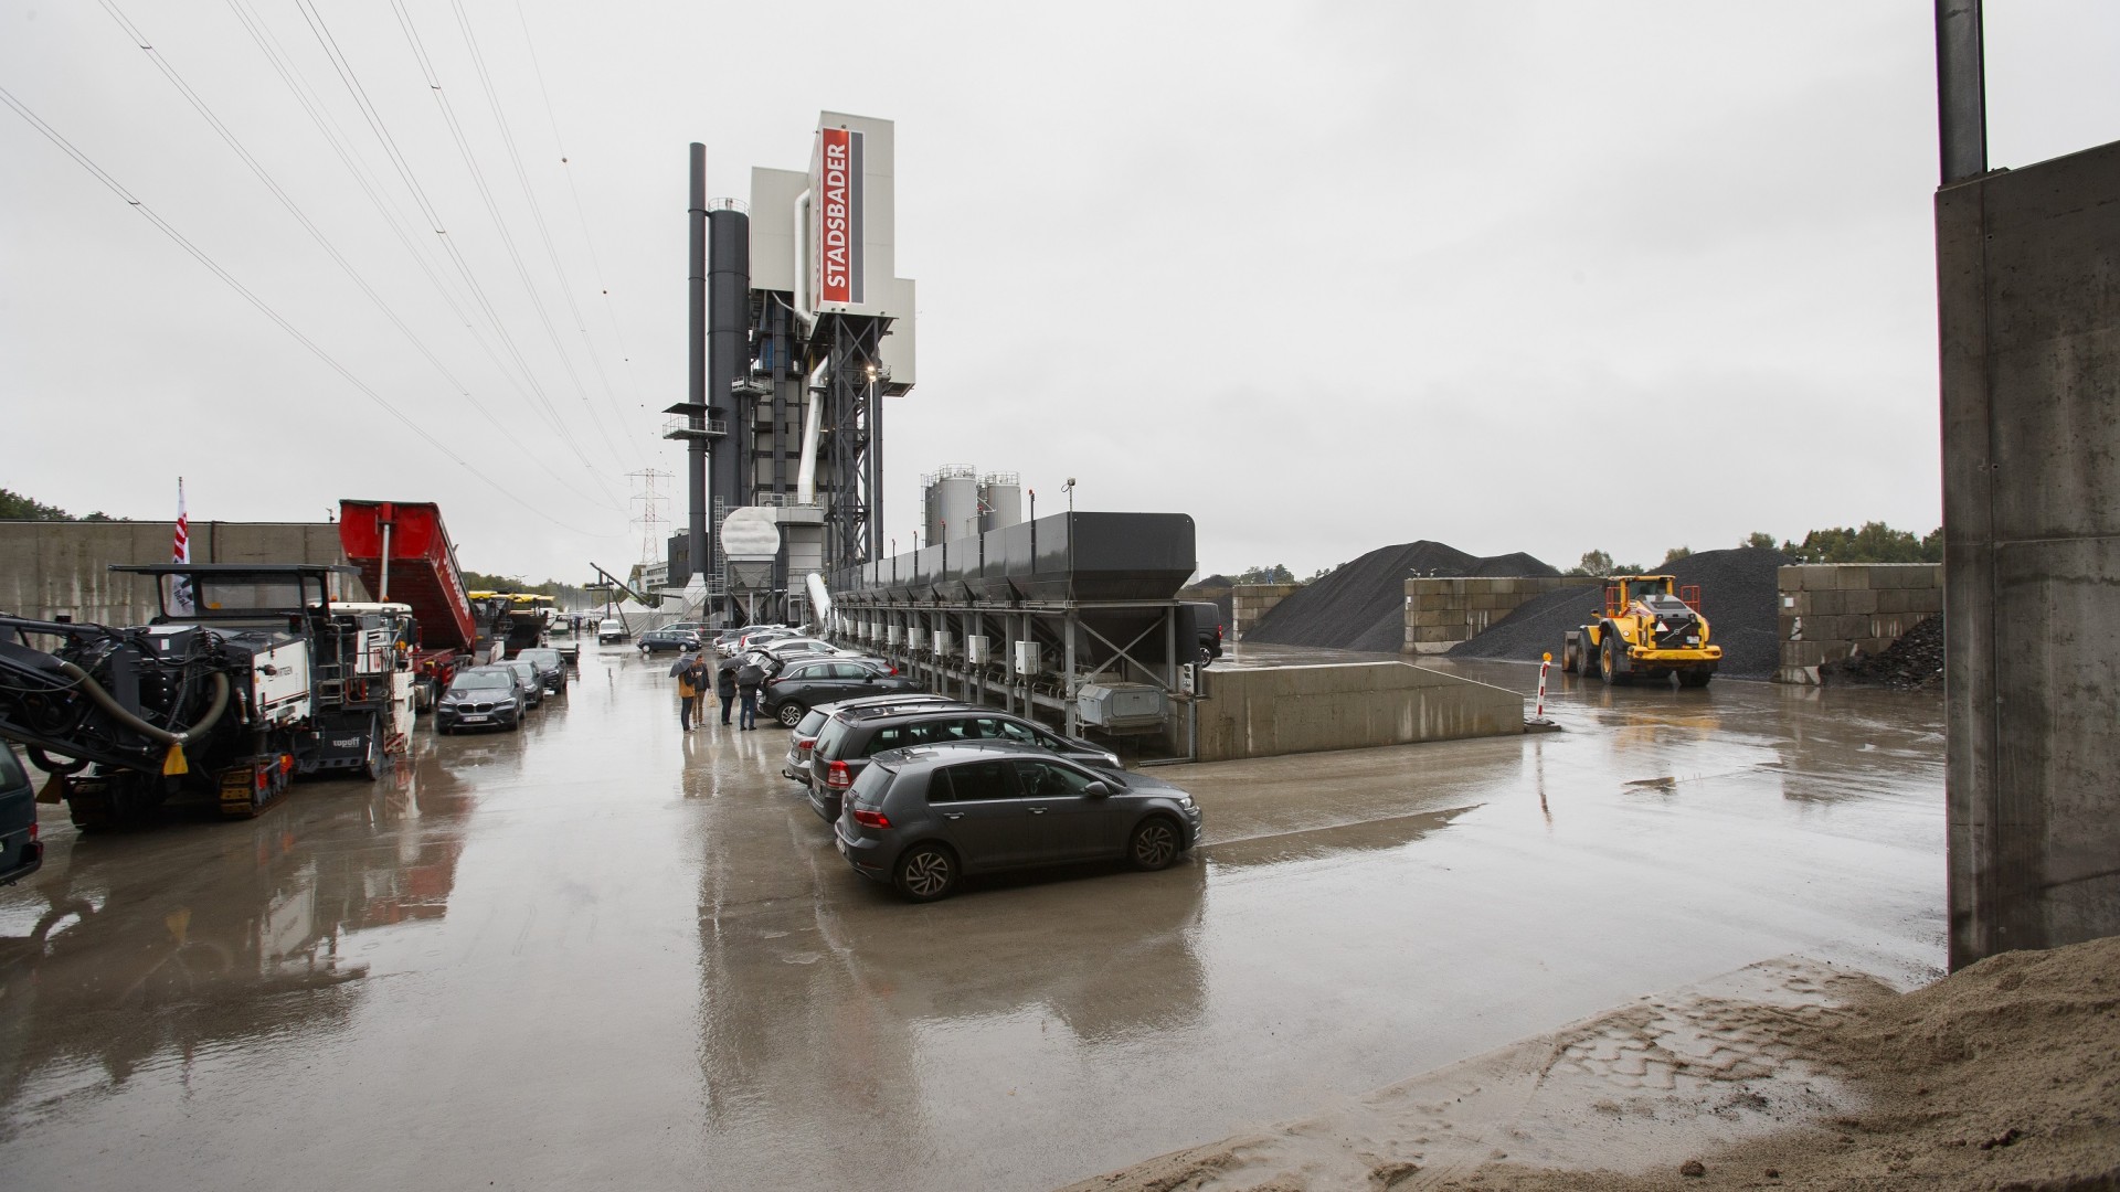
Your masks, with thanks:
M 2120 1188 L 2120 937 L 1908 995 L 1802 961 L 1732 976 L 1772 988 L 1643 999 L 1075 1188 Z

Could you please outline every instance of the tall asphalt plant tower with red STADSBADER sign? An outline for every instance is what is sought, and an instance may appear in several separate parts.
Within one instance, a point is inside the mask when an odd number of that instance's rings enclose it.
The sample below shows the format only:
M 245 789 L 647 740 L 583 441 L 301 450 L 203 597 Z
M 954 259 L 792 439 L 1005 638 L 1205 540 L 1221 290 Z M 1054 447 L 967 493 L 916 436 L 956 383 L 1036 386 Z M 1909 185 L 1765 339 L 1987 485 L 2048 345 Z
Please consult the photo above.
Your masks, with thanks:
M 708 617 L 801 619 L 810 575 L 884 556 L 886 399 L 914 388 L 893 182 L 893 123 L 842 112 L 818 117 L 808 170 L 753 168 L 748 208 L 695 182 L 702 380 L 666 437 L 706 462 L 706 541 L 670 541 L 670 581 L 697 573 Z

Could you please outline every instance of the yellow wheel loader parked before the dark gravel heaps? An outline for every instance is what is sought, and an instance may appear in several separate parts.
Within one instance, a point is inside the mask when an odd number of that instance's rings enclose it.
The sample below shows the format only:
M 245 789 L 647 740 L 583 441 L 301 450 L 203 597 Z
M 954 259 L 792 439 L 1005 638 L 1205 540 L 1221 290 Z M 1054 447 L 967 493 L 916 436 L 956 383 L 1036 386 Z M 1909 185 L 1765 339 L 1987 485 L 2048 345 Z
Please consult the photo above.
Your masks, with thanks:
M 1560 666 L 1607 683 L 1677 674 L 1681 687 L 1707 687 L 1721 647 L 1709 645 L 1698 585 L 1679 588 L 1671 575 L 1611 575 L 1605 613 L 1562 636 Z

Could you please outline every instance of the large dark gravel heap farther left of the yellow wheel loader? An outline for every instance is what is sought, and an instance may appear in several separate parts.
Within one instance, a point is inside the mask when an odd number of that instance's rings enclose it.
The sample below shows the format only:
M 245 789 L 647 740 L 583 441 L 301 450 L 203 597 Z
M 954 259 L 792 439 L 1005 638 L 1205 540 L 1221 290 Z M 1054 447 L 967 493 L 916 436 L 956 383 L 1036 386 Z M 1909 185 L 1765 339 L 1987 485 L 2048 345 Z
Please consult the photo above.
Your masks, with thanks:
M 1378 547 L 1274 604 L 1244 641 L 1397 653 L 1406 645 L 1406 579 L 1412 575 L 1560 573 L 1529 554 L 1482 558 L 1427 539 Z

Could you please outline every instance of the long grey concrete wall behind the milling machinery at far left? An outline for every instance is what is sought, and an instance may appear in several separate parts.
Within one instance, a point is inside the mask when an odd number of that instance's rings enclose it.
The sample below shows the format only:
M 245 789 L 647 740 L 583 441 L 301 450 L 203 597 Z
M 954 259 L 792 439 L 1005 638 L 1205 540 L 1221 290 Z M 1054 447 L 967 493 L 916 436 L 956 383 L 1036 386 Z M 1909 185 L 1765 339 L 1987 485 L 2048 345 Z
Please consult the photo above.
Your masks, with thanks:
M 155 585 L 114 562 L 170 562 L 174 522 L 0 522 L 0 611 L 140 626 Z M 193 562 L 346 562 L 335 522 L 193 522 Z M 350 577 L 358 588 L 360 579 Z

